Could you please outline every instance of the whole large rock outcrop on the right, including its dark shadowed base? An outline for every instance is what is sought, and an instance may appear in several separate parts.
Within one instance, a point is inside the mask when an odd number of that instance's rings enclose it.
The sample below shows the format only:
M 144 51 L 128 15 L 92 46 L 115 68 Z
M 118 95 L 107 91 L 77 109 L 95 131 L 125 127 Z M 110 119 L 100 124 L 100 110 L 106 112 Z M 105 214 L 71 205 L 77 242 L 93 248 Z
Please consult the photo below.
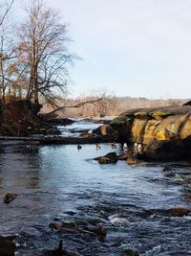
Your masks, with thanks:
M 130 146 L 140 143 L 142 160 L 190 160 L 191 105 L 133 109 L 97 132 L 103 138 L 114 134 L 114 140 Z

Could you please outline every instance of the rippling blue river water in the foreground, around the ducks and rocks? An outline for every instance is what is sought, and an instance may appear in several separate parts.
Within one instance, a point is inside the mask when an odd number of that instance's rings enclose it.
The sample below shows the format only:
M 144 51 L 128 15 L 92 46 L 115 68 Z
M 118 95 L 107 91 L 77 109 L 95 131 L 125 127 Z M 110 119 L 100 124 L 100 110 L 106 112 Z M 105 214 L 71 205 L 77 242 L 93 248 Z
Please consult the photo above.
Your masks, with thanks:
M 17 255 L 42 255 L 63 239 L 81 255 L 191 255 L 191 217 L 152 214 L 153 209 L 190 207 L 183 185 L 174 182 L 190 168 L 170 175 L 160 164 L 128 166 L 125 161 L 99 165 L 93 158 L 112 151 L 102 144 L 49 147 L 4 147 L 0 152 L 0 194 L 17 193 L 10 204 L 0 201 L 0 233 L 18 234 Z M 117 152 L 120 151 L 118 146 Z M 105 242 L 85 235 L 55 232 L 53 220 L 101 223 Z

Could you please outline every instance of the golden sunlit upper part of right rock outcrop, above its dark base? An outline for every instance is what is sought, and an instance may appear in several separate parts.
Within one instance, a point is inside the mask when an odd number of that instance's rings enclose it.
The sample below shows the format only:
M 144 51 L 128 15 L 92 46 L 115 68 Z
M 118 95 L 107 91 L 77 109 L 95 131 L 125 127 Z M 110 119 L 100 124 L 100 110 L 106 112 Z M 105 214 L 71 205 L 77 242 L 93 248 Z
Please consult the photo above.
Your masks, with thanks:
M 111 130 L 117 132 L 119 141 L 146 145 L 154 140 L 169 141 L 175 136 L 184 139 L 191 135 L 191 106 L 130 110 L 119 115 L 110 125 L 99 128 L 104 136 L 111 136 Z

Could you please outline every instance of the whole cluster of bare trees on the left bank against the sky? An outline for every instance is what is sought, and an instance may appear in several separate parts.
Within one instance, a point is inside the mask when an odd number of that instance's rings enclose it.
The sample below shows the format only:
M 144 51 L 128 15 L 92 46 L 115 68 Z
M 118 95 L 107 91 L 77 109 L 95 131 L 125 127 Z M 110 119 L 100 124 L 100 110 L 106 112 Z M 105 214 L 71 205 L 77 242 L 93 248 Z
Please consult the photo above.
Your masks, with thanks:
M 68 50 L 67 25 L 43 0 L 29 0 L 25 18 L 13 24 L 13 2 L 0 1 L 0 100 L 53 103 L 65 93 L 76 58 Z

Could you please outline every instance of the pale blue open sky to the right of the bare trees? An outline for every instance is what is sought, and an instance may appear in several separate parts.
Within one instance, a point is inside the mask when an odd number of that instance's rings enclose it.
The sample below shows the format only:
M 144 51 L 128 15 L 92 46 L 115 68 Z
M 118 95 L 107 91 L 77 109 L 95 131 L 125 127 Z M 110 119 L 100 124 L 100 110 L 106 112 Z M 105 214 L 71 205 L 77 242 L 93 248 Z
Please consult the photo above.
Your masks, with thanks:
M 17 1 L 17 0 L 15 0 Z M 46 0 L 69 23 L 73 95 L 190 98 L 190 0 Z

